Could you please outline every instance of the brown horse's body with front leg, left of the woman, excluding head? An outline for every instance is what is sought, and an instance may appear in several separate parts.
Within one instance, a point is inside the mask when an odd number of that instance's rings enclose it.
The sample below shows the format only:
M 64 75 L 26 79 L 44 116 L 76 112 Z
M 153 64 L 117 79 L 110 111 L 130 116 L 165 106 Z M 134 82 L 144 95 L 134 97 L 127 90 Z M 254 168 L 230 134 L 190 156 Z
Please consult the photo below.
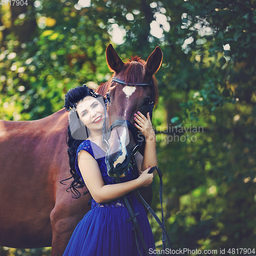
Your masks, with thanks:
M 52 255 L 62 255 L 90 209 L 90 194 L 72 199 L 59 182 L 69 177 L 67 129 L 63 109 L 35 121 L 0 121 L 2 246 L 52 246 Z

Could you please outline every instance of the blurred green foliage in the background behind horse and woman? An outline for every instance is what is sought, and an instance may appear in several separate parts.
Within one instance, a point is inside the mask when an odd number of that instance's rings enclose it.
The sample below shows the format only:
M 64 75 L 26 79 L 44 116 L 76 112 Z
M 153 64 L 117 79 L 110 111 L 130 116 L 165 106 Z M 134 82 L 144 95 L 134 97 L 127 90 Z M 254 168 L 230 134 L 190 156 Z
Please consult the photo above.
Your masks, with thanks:
M 62 108 L 68 89 L 108 80 L 104 51 L 113 28 L 126 33 L 124 44 L 114 44 L 123 59 L 146 58 L 159 45 L 153 123 L 173 247 L 253 248 L 256 1 L 93 0 L 80 9 L 73 1 L 40 3 L 31 1 L 13 24 L 11 9 L 0 6 L 0 118 L 48 116 Z M 152 35 L 154 21 L 162 37 Z M 36 28 L 28 30 L 29 23 Z M 157 196 L 153 208 L 160 209 Z M 160 230 L 150 221 L 159 241 Z

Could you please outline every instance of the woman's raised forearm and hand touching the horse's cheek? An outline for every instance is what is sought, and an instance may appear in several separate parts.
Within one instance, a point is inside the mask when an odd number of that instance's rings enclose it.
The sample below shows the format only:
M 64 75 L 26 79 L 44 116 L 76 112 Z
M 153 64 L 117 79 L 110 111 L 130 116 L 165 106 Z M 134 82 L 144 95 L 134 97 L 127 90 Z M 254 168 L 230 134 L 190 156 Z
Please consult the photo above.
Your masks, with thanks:
M 144 170 L 148 166 L 157 166 L 156 135 L 150 120 L 150 113 L 147 112 L 147 118 L 140 112 L 137 112 L 134 116 L 134 119 L 137 122 L 137 124 L 135 123 L 135 126 L 144 135 L 146 140 L 141 169 Z M 154 170 L 153 174 L 155 176 L 157 174 L 157 170 Z

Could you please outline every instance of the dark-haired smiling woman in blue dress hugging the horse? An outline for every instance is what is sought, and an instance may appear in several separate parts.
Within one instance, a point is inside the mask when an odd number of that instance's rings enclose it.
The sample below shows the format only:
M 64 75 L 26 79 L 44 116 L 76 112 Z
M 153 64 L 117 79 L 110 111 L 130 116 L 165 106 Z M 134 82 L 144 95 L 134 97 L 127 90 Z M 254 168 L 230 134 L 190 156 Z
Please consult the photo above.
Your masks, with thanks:
M 65 108 L 70 111 L 68 152 L 70 172 L 74 178 L 70 189 L 73 195 L 80 197 L 77 188 L 86 184 L 93 199 L 92 209 L 76 226 L 63 255 L 139 255 L 133 223 L 127 222 L 129 211 L 121 199 L 125 194 L 129 201 L 132 200 L 134 212 L 140 212 L 136 219 L 147 248 L 154 249 L 153 233 L 145 210 L 131 194 L 134 189 L 150 185 L 155 175 L 148 174 L 148 166 L 157 165 L 155 142 L 152 140 L 155 133 L 148 129 L 152 128 L 149 113 L 147 118 L 139 112 L 135 114 L 135 126 L 146 138 L 144 159 L 137 153 L 136 170 L 130 169 L 125 177 L 120 178 L 121 183 L 116 183 L 113 177 L 108 176 L 105 164 L 106 151 L 101 142 L 105 110 L 100 95 L 85 85 L 71 89 L 65 97 Z M 83 137 L 85 135 L 87 138 Z M 146 255 L 140 239 L 139 243 L 141 252 Z

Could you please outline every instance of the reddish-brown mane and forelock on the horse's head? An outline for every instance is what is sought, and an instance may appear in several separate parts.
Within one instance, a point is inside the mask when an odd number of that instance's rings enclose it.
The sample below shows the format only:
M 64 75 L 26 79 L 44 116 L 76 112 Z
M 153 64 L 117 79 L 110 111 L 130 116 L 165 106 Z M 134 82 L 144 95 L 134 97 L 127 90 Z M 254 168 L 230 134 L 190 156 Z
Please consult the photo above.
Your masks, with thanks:
M 139 83 L 143 81 L 144 76 L 146 75 L 145 72 L 145 66 L 146 66 L 146 61 L 143 60 L 139 56 L 132 56 L 131 59 L 126 59 L 124 62 L 123 67 L 121 68 L 119 74 L 122 75 L 122 79 L 125 82 L 129 83 Z M 102 96 L 105 96 L 106 93 L 109 91 L 110 86 L 111 86 L 111 80 L 115 76 L 115 72 L 112 74 L 111 79 L 105 83 L 101 83 L 97 89 L 96 92 L 99 93 Z M 153 75 L 152 79 L 152 84 L 153 84 L 153 100 L 155 105 L 158 102 L 158 87 L 157 87 L 157 79 Z

